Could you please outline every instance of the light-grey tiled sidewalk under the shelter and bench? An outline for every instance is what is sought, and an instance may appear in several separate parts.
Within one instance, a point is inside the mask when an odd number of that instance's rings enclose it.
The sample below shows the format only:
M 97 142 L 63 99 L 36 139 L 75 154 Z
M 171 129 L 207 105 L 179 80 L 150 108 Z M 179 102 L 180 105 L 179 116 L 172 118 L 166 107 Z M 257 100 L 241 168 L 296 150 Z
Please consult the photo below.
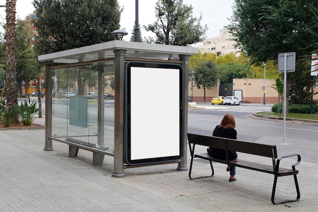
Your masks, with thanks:
M 35 123 L 44 125 L 44 120 L 37 118 Z M 271 174 L 237 168 L 237 180 L 230 183 L 226 166 L 215 163 L 213 177 L 190 180 L 188 171 L 165 164 L 125 169 L 125 177 L 115 178 L 110 156 L 105 156 L 103 165 L 92 166 L 92 153 L 83 149 L 69 158 L 68 145 L 53 141 L 54 150 L 44 151 L 43 129 L 0 131 L 0 137 L 0 211 L 298 212 L 318 208 L 317 163 L 301 161 L 296 166 L 300 201 L 273 205 Z M 316 144 L 312 145 L 317 151 Z M 286 148 L 296 153 L 292 145 Z M 206 150 L 197 146 L 196 151 Z M 243 154 L 239 157 L 257 160 Z M 189 166 L 189 151 L 187 161 Z M 285 162 L 290 167 L 295 160 Z M 193 175 L 209 173 L 207 161 L 194 160 Z M 276 197 L 296 198 L 292 176 L 278 178 Z

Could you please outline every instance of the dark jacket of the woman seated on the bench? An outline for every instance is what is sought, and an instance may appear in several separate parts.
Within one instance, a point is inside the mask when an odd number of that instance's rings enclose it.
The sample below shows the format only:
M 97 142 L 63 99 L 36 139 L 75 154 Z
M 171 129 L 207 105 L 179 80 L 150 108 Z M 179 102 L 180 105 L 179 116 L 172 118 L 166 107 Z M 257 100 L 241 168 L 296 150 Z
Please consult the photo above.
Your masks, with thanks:
M 230 138 L 230 139 L 236 139 L 237 132 L 234 128 L 231 129 L 224 129 L 220 128 L 219 125 L 217 125 L 213 131 L 213 136 L 216 137 L 222 137 L 222 138 Z M 212 156 L 215 159 L 226 159 L 225 155 L 225 150 L 223 149 L 218 149 L 218 148 L 208 148 L 208 154 Z M 236 159 L 237 154 L 236 152 L 229 151 L 229 158 L 231 159 Z

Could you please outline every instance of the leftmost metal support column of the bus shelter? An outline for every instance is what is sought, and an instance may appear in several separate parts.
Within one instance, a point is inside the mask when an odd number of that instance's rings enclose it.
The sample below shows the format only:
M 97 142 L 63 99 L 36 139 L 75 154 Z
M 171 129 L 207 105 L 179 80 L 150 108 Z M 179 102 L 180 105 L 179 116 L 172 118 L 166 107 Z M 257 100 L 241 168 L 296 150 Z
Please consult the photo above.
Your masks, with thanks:
M 52 140 L 49 139 L 52 129 L 52 70 L 49 68 L 51 63 L 45 65 L 45 146 L 44 150 L 53 150 Z

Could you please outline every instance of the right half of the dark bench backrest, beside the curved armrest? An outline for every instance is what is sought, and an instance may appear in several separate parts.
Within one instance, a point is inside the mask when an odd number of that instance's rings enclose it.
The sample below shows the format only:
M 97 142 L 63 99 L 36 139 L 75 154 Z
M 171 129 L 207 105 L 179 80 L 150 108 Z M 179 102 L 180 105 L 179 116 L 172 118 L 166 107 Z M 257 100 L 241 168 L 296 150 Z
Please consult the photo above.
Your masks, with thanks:
M 227 139 L 228 150 L 252 155 L 264 156 L 269 158 L 277 158 L 277 149 L 275 145 L 267 145 L 261 143 L 250 143 Z

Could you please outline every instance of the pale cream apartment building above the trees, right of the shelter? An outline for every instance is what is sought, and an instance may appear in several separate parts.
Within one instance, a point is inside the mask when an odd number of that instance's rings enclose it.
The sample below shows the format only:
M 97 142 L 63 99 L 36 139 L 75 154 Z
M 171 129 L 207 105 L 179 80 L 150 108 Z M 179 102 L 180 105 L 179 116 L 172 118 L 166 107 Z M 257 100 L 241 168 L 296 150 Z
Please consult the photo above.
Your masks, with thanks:
M 207 38 L 203 41 L 202 46 L 198 46 L 201 53 L 216 53 L 216 56 L 224 56 L 225 54 L 235 52 L 238 56 L 239 49 L 234 48 L 233 36 L 228 29 L 221 29 L 219 36 L 215 38 Z

